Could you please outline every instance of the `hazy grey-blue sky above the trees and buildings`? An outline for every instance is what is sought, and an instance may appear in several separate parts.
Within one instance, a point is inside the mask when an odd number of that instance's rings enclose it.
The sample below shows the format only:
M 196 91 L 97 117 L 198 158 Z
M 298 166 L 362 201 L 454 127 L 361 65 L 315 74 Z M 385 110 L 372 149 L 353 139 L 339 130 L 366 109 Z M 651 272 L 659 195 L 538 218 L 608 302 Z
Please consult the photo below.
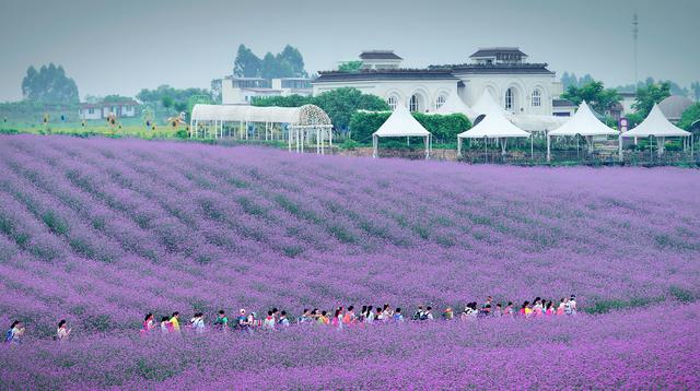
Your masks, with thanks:
M 259 57 L 298 47 L 306 70 L 363 49 L 395 49 L 407 67 L 466 62 L 483 46 L 520 46 L 560 75 L 684 86 L 700 80 L 700 0 L 0 0 L 0 100 L 21 98 L 30 64 L 62 64 L 85 94 L 135 95 L 160 84 L 209 87 L 240 44 Z

